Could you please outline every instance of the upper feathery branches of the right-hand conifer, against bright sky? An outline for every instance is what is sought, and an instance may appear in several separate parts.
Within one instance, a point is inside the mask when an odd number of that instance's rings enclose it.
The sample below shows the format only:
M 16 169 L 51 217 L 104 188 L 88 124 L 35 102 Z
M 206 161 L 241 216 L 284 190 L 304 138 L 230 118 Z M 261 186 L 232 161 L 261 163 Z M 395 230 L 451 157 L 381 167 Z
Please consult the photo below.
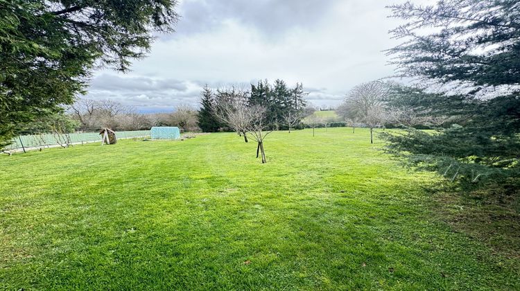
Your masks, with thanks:
M 519 85 L 517 1 L 444 0 L 427 6 L 407 1 L 390 8 L 407 21 L 392 30 L 405 42 L 388 51 L 402 76 L 467 82 L 479 90 Z

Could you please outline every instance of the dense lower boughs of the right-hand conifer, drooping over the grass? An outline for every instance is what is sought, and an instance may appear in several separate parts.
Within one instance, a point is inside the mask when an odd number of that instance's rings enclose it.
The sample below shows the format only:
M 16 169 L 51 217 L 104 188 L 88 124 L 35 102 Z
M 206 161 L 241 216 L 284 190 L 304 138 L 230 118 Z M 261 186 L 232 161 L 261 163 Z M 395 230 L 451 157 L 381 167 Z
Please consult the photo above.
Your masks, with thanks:
M 427 114 L 432 116 L 452 116 L 451 126 L 437 127 L 433 133 L 409 129 L 405 134 L 383 134 L 390 141 L 390 152 L 404 153 L 401 156 L 408 157 L 413 164 L 437 170 L 465 184 L 520 177 L 519 96 L 489 100 L 437 97 L 437 94 L 423 94 L 408 99 L 412 102 L 406 106 L 428 109 Z M 435 105 L 435 100 L 440 100 L 440 105 Z

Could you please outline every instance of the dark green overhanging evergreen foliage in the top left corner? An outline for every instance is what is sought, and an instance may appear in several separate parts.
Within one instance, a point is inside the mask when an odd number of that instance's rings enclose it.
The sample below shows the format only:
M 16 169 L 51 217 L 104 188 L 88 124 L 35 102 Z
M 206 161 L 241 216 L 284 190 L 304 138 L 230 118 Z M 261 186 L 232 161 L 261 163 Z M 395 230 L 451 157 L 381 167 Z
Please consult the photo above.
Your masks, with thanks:
M 0 148 L 73 103 L 94 64 L 127 71 L 143 58 L 153 30 L 172 30 L 175 3 L 0 0 Z

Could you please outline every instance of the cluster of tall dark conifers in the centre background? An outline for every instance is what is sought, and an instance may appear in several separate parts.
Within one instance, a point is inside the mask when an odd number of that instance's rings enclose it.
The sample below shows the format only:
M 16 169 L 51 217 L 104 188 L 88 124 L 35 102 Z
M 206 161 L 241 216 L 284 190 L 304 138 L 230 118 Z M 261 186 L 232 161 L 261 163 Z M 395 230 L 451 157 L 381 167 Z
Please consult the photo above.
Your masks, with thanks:
M 236 130 L 223 123 L 216 112 L 219 104 L 232 101 L 246 107 L 263 107 L 266 111 L 264 122 L 268 125 L 268 130 L 295 128 L 300 126 L 305 116 L 314 111 L 308 106 L 306 95 L 302 83 L 291 88 L 284 80 L 275 80 L 272 84 L 268 80 L 260 80 L 257 84 L 251 84 L 248 89 L 237 86 L 212 89 L 206 85 L 201 92 L 198 126 L 204 132 Z

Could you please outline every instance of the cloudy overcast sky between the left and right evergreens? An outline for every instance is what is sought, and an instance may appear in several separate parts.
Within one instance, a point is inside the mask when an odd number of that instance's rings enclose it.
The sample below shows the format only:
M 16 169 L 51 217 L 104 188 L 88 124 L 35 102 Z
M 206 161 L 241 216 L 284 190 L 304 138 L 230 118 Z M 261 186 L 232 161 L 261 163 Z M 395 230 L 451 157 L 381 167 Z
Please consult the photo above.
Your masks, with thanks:
M 177 32 L 160 35 L 127 74 L 98 71 L 86 98 L 140 112 L 198 107 L 200 89 L 277 78 L 303 82 L 314 105 L 338 105 L 361 82 L 392 74 L 382 52 L 399 0 L 180 0 Z

